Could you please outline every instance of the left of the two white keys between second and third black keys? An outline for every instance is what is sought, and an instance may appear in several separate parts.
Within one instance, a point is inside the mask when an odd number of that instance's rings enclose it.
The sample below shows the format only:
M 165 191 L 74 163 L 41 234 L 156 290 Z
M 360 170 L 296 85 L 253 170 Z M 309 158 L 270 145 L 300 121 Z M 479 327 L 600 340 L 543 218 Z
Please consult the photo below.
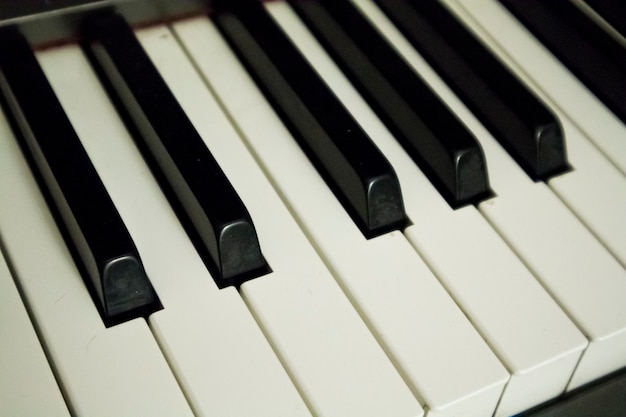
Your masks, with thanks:
M 311 413 L 420 416 L 421 405 L 166 33 L 138 37 L 250 212 L 273 272 L 240 291 Z

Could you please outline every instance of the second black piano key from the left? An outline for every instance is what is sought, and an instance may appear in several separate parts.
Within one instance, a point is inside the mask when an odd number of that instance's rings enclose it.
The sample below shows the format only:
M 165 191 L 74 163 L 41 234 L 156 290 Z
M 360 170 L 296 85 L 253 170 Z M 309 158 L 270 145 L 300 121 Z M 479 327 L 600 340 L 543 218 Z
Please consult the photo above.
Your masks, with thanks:
M 88 19 L 84 35 L 92 62 L 134 125 L 135 139 L 193 223 L 217 285 L 266 273 L 248 211 L 130 26 L 106 13 Z

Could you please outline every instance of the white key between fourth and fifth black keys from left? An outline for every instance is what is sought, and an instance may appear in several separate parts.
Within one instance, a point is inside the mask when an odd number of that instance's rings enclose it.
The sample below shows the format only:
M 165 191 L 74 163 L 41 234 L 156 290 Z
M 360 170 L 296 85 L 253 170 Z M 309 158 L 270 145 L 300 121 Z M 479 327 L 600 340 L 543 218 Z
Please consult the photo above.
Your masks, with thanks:
M 626 292 L 626 271 L 544 183 L 528 179 L 411 48 L 399 39 L 396 45 L 483 145 L 497 196 L 479 210 L 589 339 L 568 388 L 626 365 L 619 295 Z

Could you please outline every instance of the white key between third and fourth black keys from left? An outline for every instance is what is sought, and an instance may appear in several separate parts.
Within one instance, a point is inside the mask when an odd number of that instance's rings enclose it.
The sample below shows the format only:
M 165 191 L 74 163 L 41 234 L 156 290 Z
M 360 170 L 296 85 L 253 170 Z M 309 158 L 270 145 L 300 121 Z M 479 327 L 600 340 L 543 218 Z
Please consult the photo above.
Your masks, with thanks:
M 371 2 L 358 6 L 394 41 L 402 40 Z M 478 211 L 452 210 L 336 67 L 321 52 L 309 52 L 311 45 L 300 47 L 395 167 L 413 223 L 407 236 L 511 372 L 498 413 L 562 392 L 585 338 Z

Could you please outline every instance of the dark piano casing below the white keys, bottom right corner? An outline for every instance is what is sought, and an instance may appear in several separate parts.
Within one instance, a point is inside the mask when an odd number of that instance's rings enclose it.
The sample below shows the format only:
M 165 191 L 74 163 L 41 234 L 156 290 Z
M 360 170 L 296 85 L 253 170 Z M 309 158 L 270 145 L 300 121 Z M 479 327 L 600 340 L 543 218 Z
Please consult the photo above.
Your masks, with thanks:
M 626 416 L 626 369 L 516 417 Z

